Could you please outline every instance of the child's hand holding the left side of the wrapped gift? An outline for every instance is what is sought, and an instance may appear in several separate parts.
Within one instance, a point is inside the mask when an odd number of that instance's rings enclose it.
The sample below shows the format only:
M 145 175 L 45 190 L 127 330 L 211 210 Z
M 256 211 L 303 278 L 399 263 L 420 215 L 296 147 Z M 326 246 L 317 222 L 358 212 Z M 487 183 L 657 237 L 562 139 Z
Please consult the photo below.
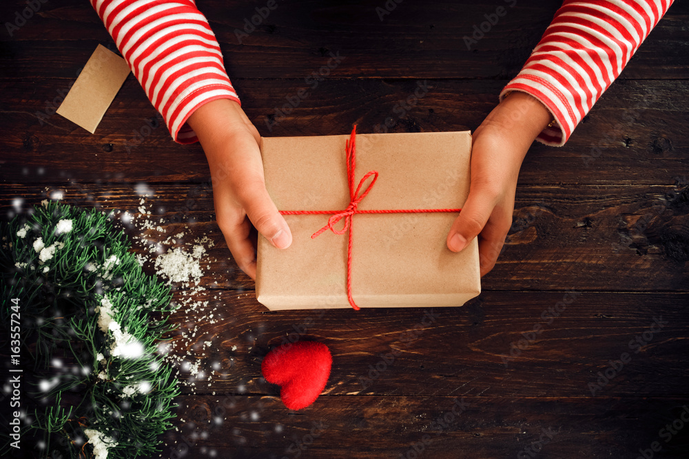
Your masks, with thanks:
M 277 248 L 287 248 L 292 235 L 265 189 L 260 135 L 238 103 L 217 99 L 189 116 L 189 126 L 206 153 L 213 183 L 216 220 L 241 270 L 256 279 L 256 230 Z

